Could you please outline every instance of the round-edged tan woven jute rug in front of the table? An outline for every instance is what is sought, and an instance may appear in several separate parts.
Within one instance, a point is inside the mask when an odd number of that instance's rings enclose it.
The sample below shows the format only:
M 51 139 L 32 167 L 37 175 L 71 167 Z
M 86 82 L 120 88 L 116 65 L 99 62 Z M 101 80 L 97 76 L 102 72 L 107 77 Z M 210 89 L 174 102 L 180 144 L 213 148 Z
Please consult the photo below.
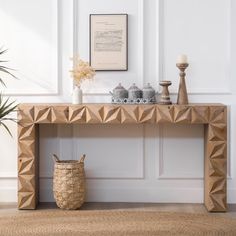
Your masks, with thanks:
M 19 211 L 0 216 L 0 235 L 236 235 L 236 219 L 154 211 Z

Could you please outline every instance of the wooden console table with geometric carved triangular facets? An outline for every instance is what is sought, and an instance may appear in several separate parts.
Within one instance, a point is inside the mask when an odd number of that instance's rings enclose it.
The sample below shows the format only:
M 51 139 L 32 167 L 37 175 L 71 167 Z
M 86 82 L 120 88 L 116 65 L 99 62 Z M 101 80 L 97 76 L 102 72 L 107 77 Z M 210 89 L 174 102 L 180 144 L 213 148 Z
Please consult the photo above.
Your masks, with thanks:
M 18 208 L 38 203 L 38 125 L 204 124 L 204 203 L 227 210 L 227 107 L 222 104 L 114 105 L 20 104 L 18 107 Z

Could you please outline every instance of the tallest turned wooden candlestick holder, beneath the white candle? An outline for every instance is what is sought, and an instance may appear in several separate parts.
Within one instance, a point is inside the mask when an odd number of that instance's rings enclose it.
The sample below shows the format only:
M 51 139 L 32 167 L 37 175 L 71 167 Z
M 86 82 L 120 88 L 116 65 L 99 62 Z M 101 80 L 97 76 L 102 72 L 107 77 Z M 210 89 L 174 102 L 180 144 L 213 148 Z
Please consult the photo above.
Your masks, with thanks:
M 184 105 L 188 104 L 188 93 L 186 89 L 186 83 L 185 83 L 185 70 L 188 67 L 188 63 L 177 63 L 176 66 L 179 68 L 180 73 L 180 82 L 179 82 L 179 91 L 178 91 L 178 98 L 177 98 L 177 104 Z

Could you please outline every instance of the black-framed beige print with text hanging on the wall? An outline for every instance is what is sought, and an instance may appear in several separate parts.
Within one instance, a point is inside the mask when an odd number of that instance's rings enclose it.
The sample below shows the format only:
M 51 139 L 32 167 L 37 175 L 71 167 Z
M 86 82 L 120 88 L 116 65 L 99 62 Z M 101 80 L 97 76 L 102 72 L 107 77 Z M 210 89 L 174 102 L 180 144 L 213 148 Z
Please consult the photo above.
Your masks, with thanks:
M 90 14 L 90 65 L 96 71 L 128 70 L 128 14 Z

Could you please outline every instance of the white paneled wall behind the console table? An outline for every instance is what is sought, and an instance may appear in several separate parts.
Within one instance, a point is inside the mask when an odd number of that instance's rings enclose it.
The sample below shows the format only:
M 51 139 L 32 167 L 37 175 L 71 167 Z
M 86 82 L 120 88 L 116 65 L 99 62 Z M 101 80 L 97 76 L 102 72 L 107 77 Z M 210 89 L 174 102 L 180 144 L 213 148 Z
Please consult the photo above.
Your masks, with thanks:
M 233 0 L 0 0 L 0 45 L 19 80 L 5 92 L 18 102 L 70 102 L 70 57 L 88 59 L 90 13 L 129 14 L 129 71 L 97 72 L 86 102 L 109 102 L 118 82 L 142 87 L 171 80 L 189 56 L 190 102 L 229 106 L 228 202 L 236 203 L 236 2 Z M 1 130 L 0 202 L 17 200 L 14 138 Z M 231 145 L 232 143 L 232 145 Z M 203 126 L 42 125 L 40 200 L 53 201 L 51 153 L 87 154 L 88 201 L 203 202 Z

